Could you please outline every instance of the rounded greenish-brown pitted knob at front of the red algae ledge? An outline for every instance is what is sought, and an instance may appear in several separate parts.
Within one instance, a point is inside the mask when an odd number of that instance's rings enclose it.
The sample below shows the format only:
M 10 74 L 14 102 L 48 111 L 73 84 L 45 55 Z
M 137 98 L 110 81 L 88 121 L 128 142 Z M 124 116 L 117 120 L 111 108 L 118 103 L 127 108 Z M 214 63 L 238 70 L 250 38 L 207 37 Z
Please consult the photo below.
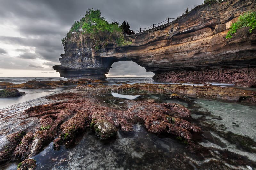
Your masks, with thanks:
M 94 131 L 100 139 L 109 139 L 117 134 L 117 128 L 107 120 L 102 120 L 94 125 Z

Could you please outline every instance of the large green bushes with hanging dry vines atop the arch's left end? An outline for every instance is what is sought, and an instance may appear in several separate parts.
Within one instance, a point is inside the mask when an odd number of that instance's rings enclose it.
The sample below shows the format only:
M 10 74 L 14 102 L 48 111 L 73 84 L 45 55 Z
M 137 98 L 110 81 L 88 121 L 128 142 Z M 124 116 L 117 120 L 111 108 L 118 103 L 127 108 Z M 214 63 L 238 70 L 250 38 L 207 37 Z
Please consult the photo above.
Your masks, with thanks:
M 78 46 L 92 46 L 92 49 L 98 51 L 104 48 L 108 42 L 113 42 L 118 46 L 127 43 L 125 41 L 122 29 L 117 22 L 108 23 L 101 16 L 100 10 L 88 9 L 80 21 L 75 21 L 67 33 L 69 40 L 77 42 Z M 67 39 L 62 39 L 65 45 Z

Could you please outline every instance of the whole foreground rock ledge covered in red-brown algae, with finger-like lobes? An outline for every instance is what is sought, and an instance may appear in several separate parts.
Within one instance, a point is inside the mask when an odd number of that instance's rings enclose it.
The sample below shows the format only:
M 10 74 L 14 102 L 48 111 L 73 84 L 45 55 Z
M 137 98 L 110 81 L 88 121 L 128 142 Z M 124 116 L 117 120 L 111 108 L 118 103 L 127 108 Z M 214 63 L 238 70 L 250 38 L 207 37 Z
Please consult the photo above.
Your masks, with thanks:
M 170 133 L 188 143 L 193 143 L 191 133 L 201 133 L 199 127 L 183 119 L 190 118 L 190 111 L 178 104 L 126 101 L 129 109 L 116 110 L 84 93 L 60 93 L 47 98 L 52 103 L 30 107 L 20 115 L 13 115 L 11 129 L 2 126 L 7 132 L 3 134 L 6 141 L 0 150 L 0 164 L 29 159 L 56 137 L 53 141 L 55 149 L 60 149 L 61 145 L 68 148 L 75 145 L 76 137 L 87 127 L 93 128 L 100 139 L 116 136 L 118 129 L 133 131 L 133 125 L 138 121 L 136 117 L 144 122 L 148 131 Z

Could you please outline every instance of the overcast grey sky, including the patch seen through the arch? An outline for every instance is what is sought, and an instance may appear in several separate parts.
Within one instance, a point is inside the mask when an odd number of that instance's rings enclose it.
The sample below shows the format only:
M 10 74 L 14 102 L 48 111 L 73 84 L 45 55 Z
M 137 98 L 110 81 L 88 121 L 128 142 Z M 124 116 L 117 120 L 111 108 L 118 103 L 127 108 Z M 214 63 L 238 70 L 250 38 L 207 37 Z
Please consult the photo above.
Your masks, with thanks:
M 0 0 L 0 77 L 59 77 L 61 39 L 88 8 L 131 29 L 175 18 L 203 0 Z M 152 76 L 132 61 L 116 62 L 107 76 Z

